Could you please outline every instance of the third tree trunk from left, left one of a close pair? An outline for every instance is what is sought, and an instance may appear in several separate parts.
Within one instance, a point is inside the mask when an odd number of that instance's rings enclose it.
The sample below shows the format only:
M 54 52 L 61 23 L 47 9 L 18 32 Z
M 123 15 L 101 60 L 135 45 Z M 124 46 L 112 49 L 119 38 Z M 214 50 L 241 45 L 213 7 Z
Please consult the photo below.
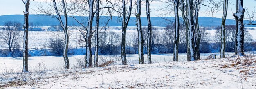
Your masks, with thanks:
M 89 21 L 88 21 L 88 29 L 87 29 L 87 34 L 86 34 L 86 55 L 85 55 L 85 60 L 86 60 L 86 67 L 92 67 L 92 21 L 93 21 L 93 3 L 94 0 L 88 0 L 89 4 Z

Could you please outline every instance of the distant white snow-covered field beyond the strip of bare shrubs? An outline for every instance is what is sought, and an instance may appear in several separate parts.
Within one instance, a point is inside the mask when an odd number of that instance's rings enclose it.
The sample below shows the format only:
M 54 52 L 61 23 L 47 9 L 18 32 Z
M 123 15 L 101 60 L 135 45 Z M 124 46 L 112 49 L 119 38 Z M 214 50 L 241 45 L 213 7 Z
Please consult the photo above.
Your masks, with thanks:
M 44 27 L 45 28 L 45 27 Z M 119 27 L 117 27 L 119 28 Z M 135 27 L 129 27 L 129 29 L 134 29 Z M 157 27 L 159 29 L 162 29 L 161 27 Z M 121 36 L 121 30 L 110 30 L 112 32 L 117 32 Z M 159 30 L 161 31 L 161 30 Z M 249 33 L 252 35 L 252 39 L 256 41 L 256 30 L 248 30 Z M 134 36 L 135 32 L 137 30 L 127 30 L 126 31 L 126 39 L 129 39 L 129 36 Z M 216 30 L 206 30 L 206 32 L 210 33 L 210 36 L 214 36 Z M 22 33 L 22 32 L 21 32 Z M 161 32 L 160 32 L 161 33 Z M 70 31 L 70 43 L 69 47 L 71 48 L 77 48 L 80 46 L 78 44 L 79 38 L 83 37 L 81 36 L 81 33 L 78 30 L 72 30 Z M 136 34 L 135 34 L 136 35 Z M 51 38 L 65 38 L 64 32 L 59 32 L 59 31 L 29 31 L 29 48 L 34 48 L 34 49 L 40 49 L 40 48 L 46 48 L 49 47 L 49 39 Z M 22 39 L 22 38 L 21 38 Z M 93 42 L 94 43 L 94 42 Z M 22 42 L 20 42 L 20 46 L 23 45 Z M 81 44 L 82 46 L 85 46 L 85 42 Z M 94 46 L 94 45 L 93 45 Z M 7 48 L 6 46 L 1 47 L 2 48 Z

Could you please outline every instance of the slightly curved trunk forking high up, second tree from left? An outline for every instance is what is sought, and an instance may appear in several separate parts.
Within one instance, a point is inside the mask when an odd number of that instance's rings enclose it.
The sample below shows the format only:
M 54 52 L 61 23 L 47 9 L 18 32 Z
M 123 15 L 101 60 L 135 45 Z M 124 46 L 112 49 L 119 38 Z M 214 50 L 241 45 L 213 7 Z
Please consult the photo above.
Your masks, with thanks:
M 68 30 L 67 30 L 67 11 L 66 11 L 66 6 L 65 6 L 65 1 L 61 0 L 62 7 L 63 7 L 64 20 L 65 20 L 64 23 L 63 23 L 63 20 L 61 19 L 61 14 L 58 11 L 56 1 L 55 0 L 52 0 L 52 1 L 53 1 L 53 4 L 54 4 L 55 12 L 57 14 L 57 19 L 60 22 L 61 28 L 63 29 L 64 34 L 65 34 L 65 45 L 64 45 L 64 51 L 63 51 L 64 67 L 65 67 L 65 69 L 69 69 L 70 68 L 70 63 L 69 63 L 69 59 L 67 57 L 69 35 L 68 35 Z

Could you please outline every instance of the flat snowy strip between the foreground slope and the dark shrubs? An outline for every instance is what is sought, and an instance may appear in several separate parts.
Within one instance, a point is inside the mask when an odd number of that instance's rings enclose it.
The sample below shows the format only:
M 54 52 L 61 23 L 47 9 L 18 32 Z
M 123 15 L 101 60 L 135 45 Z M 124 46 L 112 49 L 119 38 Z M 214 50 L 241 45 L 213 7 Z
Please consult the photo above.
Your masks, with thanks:
M 254 54 L 256 52 L 245 52 L 246 54 Z M 209 55 L 216 54 L 216 57 L 219 58 L 220 53 L 200 53 L 201 59 L 206 59 Z M 226 57 L 233 56 L 234 53 L 225 53 Z M 102 64 L 103 61 L 110 59 L 108 58 L 111 55 L 99 55 L 99 64 Z M 144 54 L 144 63 L 147 63 L 147 55 Z M 76 68 L 77 59 L 83 59 L 85 55 L 75 55 L 69 56 L 70 68 Z M 117 55 L 115 59 L 115 65 L 121 65 L 121 57 Z M 114 59 L 112 56 L 111 59 Z M 94 56 L 92 57 L 94 58 Z M 173 61 L 173 54 L 152 54 L 152 62 L 170 62 Z M 179 54 L 179 61 L 186 61 L 186 53 Z M 29 71 L 48 71 L 48 70 L 62 70 L 63 68 L 63 57 L 62 56 L 38 56 L 38 57 L 29 57 Z M 127 64 L 139 64 L 138 55 L 127 55 Z M 22 72 L 22 57 L 0 57 L 0 74 L 1 73 L 13 73 L 13 72 Z

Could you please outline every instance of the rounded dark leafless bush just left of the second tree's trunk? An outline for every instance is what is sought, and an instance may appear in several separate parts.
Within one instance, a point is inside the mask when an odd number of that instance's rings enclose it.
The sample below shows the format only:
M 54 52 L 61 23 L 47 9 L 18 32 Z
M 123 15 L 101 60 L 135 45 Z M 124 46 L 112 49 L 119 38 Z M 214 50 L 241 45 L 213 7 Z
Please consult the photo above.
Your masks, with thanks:
M 50 39 L 51 52 L 55 55 L 63 55 L 65 41 L 60 38 Z

